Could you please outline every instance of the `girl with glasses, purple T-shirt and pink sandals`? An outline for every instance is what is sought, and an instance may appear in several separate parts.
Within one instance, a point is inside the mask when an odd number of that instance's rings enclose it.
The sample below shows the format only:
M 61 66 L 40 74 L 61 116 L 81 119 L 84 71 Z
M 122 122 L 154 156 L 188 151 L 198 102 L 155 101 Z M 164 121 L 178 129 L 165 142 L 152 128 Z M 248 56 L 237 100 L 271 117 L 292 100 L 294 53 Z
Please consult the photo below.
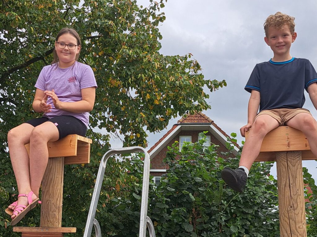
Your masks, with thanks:
M 63 28 L 57 34 L 54 60 L 42 69 L 35 84 L 32 106 L 43 117 L 31 119 L 8 133 L 10 159 L 19 191 L 18 200 L 6 209 L 12 226 L 39 201 L 49 159 L 47 143 L 70 134 L 86 134 L 97 83 L 93 70 L 77 62 L 80 50 L 81 40 L 75 30 Z M 28 143 L 30 155 L 24 147 Z

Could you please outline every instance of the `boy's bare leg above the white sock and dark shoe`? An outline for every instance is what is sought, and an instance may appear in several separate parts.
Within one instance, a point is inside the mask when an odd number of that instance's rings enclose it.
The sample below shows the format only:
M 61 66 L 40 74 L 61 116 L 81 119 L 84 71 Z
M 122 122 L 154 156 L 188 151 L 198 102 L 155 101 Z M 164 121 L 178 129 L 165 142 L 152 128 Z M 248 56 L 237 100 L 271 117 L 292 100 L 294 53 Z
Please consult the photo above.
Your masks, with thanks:
M 253 162 L 260 153 L 265 135 L 279 126 L 279 122 L 270 115 L 260 115 L 253 122 L 248 140 L 244 143 L 239 166 L 250 170 Z

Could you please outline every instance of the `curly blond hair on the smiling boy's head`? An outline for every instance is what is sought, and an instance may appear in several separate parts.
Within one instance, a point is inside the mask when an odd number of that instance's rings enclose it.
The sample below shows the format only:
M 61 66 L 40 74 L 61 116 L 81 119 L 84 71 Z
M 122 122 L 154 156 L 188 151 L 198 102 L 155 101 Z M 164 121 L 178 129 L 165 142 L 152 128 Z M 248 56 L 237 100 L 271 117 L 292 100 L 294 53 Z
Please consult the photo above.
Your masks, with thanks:
M 265 36 L 268 37 L 268 28 L 273 26 L 278 29 L 282 29 L 284 25 L 288 25 L 288 28 L 291 34 L 295 31 L 295 17 L 288 16 L 281 13 L 280 11 L 276 12 L 274 15 L 269 15 L 264 22 L 264 31 Z

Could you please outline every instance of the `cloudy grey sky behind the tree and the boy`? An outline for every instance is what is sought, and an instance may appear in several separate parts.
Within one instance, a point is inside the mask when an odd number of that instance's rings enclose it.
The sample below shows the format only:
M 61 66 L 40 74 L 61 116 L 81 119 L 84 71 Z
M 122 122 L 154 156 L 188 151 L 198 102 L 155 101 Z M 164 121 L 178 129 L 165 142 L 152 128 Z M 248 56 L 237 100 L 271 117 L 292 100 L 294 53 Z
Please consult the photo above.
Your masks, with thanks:
M 147 7 L 148 0 L 137 0 Z M 203 111 L 227 134 L 237 133 L 238 142 L 244 140 L 239 129 L 247 123 L 247 104 L 250 94 L 244 86 L 256 63 L 273 57 L 264 42 L 263 23 L 277 11 L 295 17 L 297 39 L 291 55 L 307 58 L 317 69 L 317 2 L 306 1 L 207 1 L 168 0 L 165 3 L 166 20 L 159 26 L 164 55 L 192 53 L 203 68 L 205 79 L 226 80 L 228 86 L 210 93 L 211 109 Z M 207 91 L 206 91 L 207 92 Z M 304 108 L 317 118 L 317 111 L 305 92 Z M 168 128 L 158 134 L 149 134 L 149 147 L 180 118 L 171 120 Z M 122 143 L 112 141 L 112 147 Z M 317 181 L 317 162 L 303 161 L 303 166 Z M 276 168 L 271 170 L 276 174 Z

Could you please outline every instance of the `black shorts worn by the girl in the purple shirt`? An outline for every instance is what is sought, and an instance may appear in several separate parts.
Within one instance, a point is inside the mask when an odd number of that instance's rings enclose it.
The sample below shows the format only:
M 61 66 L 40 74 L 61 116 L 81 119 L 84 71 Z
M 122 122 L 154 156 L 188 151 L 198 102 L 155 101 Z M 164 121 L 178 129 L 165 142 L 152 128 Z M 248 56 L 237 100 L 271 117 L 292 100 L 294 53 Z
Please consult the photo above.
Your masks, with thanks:
M 81 122 L 80 119 L 73 116 L 56 116 L 54 118 L 35 118 L 31 119 L 25 123 L 31 124 L 33 127 L 36 127 L 44 122 L 52 122 L 55 124 L 58 129 L 59 139 L 66 137 L 67 135 L 77 134 L 80 136 L 85 136 L 87 127 Z

